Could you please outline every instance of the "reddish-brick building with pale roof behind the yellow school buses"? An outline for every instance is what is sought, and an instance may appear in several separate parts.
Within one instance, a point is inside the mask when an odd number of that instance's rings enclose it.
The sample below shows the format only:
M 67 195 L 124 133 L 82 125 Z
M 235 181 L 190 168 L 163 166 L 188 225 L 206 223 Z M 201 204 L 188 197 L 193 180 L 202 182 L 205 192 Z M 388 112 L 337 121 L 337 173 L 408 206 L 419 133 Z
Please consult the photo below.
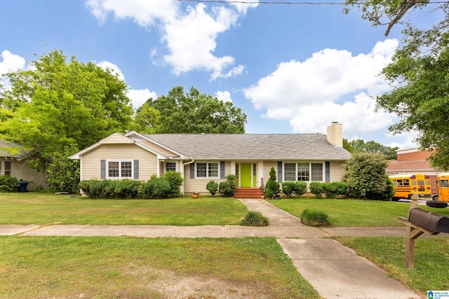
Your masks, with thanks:
M 438 169 L 431 167 L 431 151 L 421 151 L 420 148 L 408 148 L 397 151 L 397 160 L 388 162 L 387 174 L 426 174 L 429 176 L 432 193 L 437 193 L 436 177 Z

